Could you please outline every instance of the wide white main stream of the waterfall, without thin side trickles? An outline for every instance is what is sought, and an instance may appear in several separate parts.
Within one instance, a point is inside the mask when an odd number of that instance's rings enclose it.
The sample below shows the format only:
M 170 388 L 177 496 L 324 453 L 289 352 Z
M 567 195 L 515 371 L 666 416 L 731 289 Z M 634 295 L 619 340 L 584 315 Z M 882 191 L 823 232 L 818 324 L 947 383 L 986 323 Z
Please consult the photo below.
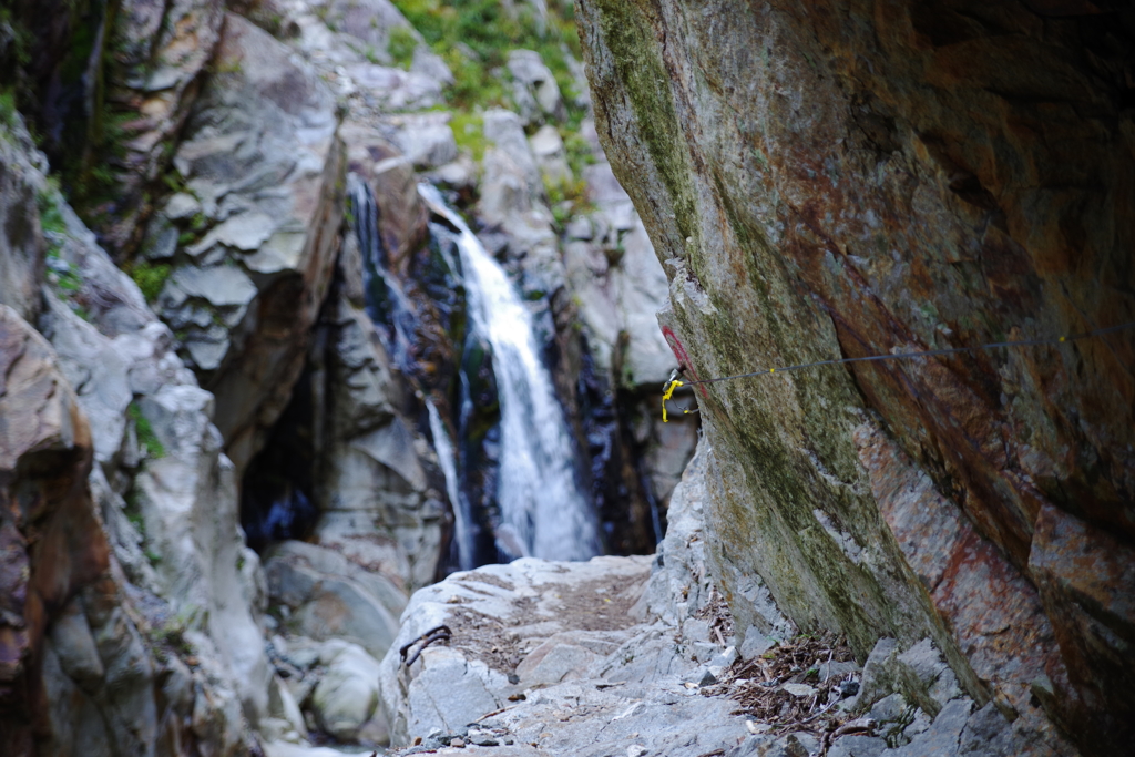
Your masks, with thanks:
M 574 455 L 552 377 L 540 362 L 532 316 L 504 269 L 432 186 L 419 192 L 436 213 L 459 230 L 456 238 L 465 297 L 473 328 L 493 347 L 493 372 L 501 402 L 501 473 L 497 503 L 501 531 L 523 552 L 546 560 L 588 560 L 598 554 L 591 507 L 575 483 Z M 454 503 L 456 506 L 456 503 Z

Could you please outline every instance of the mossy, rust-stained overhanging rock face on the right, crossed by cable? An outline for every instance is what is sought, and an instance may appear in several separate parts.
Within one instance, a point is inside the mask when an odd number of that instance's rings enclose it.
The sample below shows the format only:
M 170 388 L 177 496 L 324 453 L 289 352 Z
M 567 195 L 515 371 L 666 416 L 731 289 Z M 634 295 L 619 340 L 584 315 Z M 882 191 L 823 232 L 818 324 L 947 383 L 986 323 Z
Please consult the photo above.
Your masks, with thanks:
M 691 378 L 1135 318 L 1120 3 L 578 7 Z M 1029 748 L 1121 749 L 1132 334 L 696 387 L 739 631 L 930 637 Z

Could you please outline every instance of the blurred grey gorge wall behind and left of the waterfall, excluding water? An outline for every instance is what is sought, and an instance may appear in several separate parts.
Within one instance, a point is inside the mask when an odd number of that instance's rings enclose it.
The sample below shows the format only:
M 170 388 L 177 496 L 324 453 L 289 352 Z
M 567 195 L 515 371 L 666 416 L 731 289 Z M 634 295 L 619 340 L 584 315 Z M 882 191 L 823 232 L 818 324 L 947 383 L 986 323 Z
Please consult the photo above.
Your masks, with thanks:
M 581 65 L 436 50 L 386 0 L 0 7 L 3 754 L 388 739 L 368 674 L 454 564 L 424 402 L 459 430 L 464 295 L 423 177 L 524 292 L 608 548 L 653 548 L 697 422 L 650 412 L 665 277 Z M 449 67 L 481 54 L 507 91 L 459 103 Z M 410 361 L 368 291 L 362 184 Z

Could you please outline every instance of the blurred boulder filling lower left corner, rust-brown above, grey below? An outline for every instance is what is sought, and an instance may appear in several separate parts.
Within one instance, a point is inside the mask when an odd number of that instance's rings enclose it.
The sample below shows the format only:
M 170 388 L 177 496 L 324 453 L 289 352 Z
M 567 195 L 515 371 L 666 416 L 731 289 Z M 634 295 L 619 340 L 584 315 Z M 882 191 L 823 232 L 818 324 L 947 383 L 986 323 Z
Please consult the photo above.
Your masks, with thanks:
M 211 640 L 194 645 L 202 657 L 191 670 L 151 622 L 163 603 L 132 606 L 142 595 L 123 583 L 89 486 L 90 428 L 51 346 L 7 305 L 0 343 L 5 754 L 145 755 L 167 740 L 246 750 L 242 699 L 233 673 L 215 666 Z M 26 508 L 8 506 L 17 501 Z M 166 648 L 154 654 L 155 645 Z

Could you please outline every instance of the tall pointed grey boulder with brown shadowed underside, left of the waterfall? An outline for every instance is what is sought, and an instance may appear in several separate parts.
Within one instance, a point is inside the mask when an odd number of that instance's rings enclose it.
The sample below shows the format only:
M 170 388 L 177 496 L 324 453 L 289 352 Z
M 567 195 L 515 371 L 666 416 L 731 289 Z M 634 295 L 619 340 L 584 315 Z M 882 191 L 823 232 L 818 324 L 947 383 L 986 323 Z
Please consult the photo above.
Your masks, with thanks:
M 331 92 L 281 42 L 228 15 L 215 68 L 174 155 L 184 191 L 144 252 L 171 266 L 160 314 L 217 396 L 242 471 L 303 367 L 338 250 L 344 161 Z

